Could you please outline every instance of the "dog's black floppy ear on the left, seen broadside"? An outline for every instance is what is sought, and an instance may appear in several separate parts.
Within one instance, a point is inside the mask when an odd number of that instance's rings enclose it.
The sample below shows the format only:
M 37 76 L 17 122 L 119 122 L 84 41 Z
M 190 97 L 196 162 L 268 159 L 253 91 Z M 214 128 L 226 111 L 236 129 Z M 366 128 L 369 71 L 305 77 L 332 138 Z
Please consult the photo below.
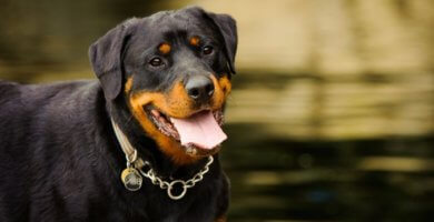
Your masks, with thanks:
M 108 101 L 116 99 L 122 89 L 122 52 L 136 20 L 118 24 L 89 48 L 90 63 Z

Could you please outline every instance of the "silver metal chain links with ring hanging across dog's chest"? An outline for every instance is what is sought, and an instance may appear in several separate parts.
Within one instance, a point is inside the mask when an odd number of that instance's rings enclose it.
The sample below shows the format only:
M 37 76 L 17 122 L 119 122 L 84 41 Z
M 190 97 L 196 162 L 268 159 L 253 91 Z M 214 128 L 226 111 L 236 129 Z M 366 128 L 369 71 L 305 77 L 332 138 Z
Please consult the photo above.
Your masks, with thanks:
M 141 169 L 139 170 L 140 173 L 148 178 L 154 185 L 158 185 L 161 190 L 167 190 L 167 195 L 171 200 L 179 200 L 184 198 L 184 195 L 187 193 L 187 189 L 193 188 L 196 185 L 197 182 L 204 180 L 204 175 L 209 171 L 209 165 L 213 164 L 214 158 L 208 157 L 208 162 L 205 164 L 204 169 L 195 174 L 191 179 L 184 181 L 184 180 L 174 180 L 171 182 L 167 182 L 161 180 L 156 173 L 154 172 L 154 169 L 151 168 L 150 163 L 148 161 L 145 162 L 145 165 L 149 167 L 149 170 L 147 172 L 144 172 Z M 183 185 L 183 192 L 180 192 L 178 195 L 172 193 L 174 185 L 180 183 Z

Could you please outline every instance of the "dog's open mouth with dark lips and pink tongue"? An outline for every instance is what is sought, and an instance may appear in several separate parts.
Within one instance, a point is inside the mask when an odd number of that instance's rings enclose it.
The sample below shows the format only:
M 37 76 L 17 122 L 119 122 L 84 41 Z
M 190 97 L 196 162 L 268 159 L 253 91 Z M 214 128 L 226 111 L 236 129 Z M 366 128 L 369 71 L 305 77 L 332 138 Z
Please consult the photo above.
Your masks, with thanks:
M 145 110 L 157 129 L 180 142 L 189 154 L 197 154 L 198 150 L 215 150 L 227 138 L 221 130 L 224 124 L 221 109 L 201 110 L 181 119 L 169 117 L 154 105 L 146 105 Z

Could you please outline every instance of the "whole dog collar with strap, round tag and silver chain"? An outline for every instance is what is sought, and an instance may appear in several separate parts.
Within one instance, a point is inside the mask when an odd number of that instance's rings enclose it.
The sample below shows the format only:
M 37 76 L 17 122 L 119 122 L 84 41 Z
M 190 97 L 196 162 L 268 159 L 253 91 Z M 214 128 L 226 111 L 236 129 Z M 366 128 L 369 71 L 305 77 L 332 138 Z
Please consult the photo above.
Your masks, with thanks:
M 119 125 L 111 119 L 111 124 L 115 130 L 116 138 L 125 153 L 125 158 L 127 159 L 127 168 L 120 174 L 120 179 L 125 185 L 125 188 L 129 191 L 138 191 L 142 184 L 142 178 L 148 178 L 154 185 L 158 185 L 161 190 L 167 191 L 167 195 L 171 200 L 183 199 L 187 189 L 190 189 L 196 185 L 197 182 L 204 180 L 204 175 L 209 171 L 209 165 L 213 164 L 214 158 L 211 155 L 208 157 L 208 161 L 205 164 L 204 169 L 201 169 L 198 173 L 196 173 L 191 179 L 184 180 L 172 180 L 171 182 L 165 181 L 159 178 L 154 171 L 151 164 L 148 161 L 144 161 L 142 159 L 137 157 L 137 150 L 131 145 L 128 138 L 120 130 Z M 146 172 L 142 170 L 144 167 L 148 167 L 149 170 Z M 140 172 L 140 173 L 139 173 Z M 140 175 L 141 174 L 141 175 Z M 181 192 L 179 194 L 174 194 L 174 186 L 181 185 Z

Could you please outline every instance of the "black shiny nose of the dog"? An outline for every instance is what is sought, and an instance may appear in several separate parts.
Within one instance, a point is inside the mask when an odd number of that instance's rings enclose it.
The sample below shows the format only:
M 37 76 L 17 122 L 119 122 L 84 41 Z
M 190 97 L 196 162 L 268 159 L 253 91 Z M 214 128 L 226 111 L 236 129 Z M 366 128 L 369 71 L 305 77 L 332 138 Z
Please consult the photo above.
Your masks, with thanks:
M 193 75 L 186 83 L 188 97 L 198 102 L 207 102 L 214 93 L 214 83 L 206 75 Z

